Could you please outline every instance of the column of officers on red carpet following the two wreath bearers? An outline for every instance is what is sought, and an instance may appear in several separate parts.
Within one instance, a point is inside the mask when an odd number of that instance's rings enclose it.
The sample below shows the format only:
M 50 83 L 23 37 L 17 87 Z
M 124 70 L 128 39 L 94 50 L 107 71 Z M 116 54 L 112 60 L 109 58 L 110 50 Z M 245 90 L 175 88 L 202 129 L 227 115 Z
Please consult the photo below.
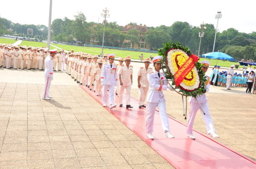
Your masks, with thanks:
M 99 59 L 98 55 L 91 55 L 90 53 L 83 52 L 69 52 L 69 57 L 66 62 L 67 74 L 71 75 L 74 81 L 77 81 L 80 85 L 88 87 L 90 90 L 96 92 L 96 95 L 101 94 L 101 89 L 105 84 L 108 84 L 110 89 L 109 93 L 118 95 L 119 106 L 123 106 L 123 92 L 126 90 L 126 108 L 133 108 L 130 104 L 131 89 L 133 83 L 133 66 L 131 64 L 131 56 L 120 58 L 119 63 L 114 63 L 115 55 L 104 54 L 104 59 Z M 112 61 L 113 58 L 113 61 Z M 138 71 L 138 87 L 139 94 L 139 108 L 146 107 L 144 105 L 146 95 L 148 93 L 149 84 L 147 80 L 147 73 L 152 72 L 150 68 L 150 58 L 144 59 L 144 67 L 140 67 Z M 109 72 L 109 70 L 111 70 Z M 109 72 L 108 75 L 105 75 Z M 117 73 L 116 77 L 111 75 Z M 116 86 L 116 90 L 112 89 L 112 86 Z M 104 89 L 103 89 L 104 90 Z M 107 90 L 107 91 L 108 91 Z M 104 92 L 103 92 L 104 94 Z M 107 100 L 103 95 L 103 106 L 106 106 Z M 111 99 L 112 100 L 112 99 Z M 110 102 L 110 107 L 114 108 L 114 101 Z

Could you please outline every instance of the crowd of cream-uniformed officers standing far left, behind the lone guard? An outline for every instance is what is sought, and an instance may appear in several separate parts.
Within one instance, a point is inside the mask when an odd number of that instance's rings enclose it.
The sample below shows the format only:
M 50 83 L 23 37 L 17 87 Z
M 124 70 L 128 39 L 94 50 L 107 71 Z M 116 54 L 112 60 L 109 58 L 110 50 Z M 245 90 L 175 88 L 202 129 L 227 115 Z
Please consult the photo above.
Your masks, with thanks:
M 13 46 L 0 44 L 0 67 L 7 69 L 44 70 L 44 61 L 48 56 L 47 47 Z M 65 70 L 65 56 L 60 50 L 53 59 L 54 71 Z

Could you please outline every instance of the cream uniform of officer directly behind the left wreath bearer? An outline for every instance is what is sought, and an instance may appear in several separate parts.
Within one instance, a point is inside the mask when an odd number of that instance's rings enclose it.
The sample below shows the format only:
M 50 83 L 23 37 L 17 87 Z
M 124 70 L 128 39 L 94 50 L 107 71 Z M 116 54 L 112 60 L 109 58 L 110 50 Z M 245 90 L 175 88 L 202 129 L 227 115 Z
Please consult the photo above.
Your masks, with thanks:
M 148 89 L 150 88 L 150 84 L 147 80 L 147 73 L 152 72 L 153 69 L 148 67 L 147 70 L 144 67 L 140 67 L 138 71 L 138 76 L 140 76 L 140 88 L 139 88 L 139 106 L 144 105 L 146 100 L 146 95 Z

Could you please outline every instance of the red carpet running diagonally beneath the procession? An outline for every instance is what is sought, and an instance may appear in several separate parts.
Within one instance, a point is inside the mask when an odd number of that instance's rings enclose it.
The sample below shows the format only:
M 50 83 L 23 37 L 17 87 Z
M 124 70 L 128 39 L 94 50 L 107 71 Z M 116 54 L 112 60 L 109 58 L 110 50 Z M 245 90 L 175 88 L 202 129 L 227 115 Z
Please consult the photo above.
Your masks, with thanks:
M 87 87 L 81 88 L 102 104 L 101 96 Z M 165 138 L 161 126 L 159 113 L 156 112 L 154 120 L 154 140 L 146 136 L 147 108 L 138 108 L 138 100 L 131 98 L 134 108 L 125 108 L 125 95 L 123 107 L 118 106 L 118 97 L 115 96 L 116 108 L 106 107 L 116 118 L 129 127 L 141 139 L 151 146 L 157 153 L 176 168 L 256 168 L 256 162 L 244 155 L 233 151 L 216 140 L 194 131 L 196 140 L 190 139 L 186 134 L 186 125 L 169 117 L 170 133 L 175 138 Z M 221 134 L 220 134 L 221 135 Z

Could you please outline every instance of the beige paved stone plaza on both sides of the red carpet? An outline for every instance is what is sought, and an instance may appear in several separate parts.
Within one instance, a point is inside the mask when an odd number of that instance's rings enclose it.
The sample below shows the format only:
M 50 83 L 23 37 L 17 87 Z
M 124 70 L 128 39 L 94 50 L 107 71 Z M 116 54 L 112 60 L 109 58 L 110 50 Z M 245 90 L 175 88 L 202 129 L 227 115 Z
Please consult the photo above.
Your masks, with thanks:
M 143 64 L 131 65 L 138 98 Z M 0 168 L 173 168 L 65 72 L 54 72 L 53 100 L 41 100 L 43 88 L 42 71 L 0 68 Z M 255 95 L 231 89 L 211 86 L 207 94 L 216 140 L 255 160 Z M 186 124 L 181 96 L 165 97 L 169 116 Z M 206 134 L 200 113 L 194 128 Z

